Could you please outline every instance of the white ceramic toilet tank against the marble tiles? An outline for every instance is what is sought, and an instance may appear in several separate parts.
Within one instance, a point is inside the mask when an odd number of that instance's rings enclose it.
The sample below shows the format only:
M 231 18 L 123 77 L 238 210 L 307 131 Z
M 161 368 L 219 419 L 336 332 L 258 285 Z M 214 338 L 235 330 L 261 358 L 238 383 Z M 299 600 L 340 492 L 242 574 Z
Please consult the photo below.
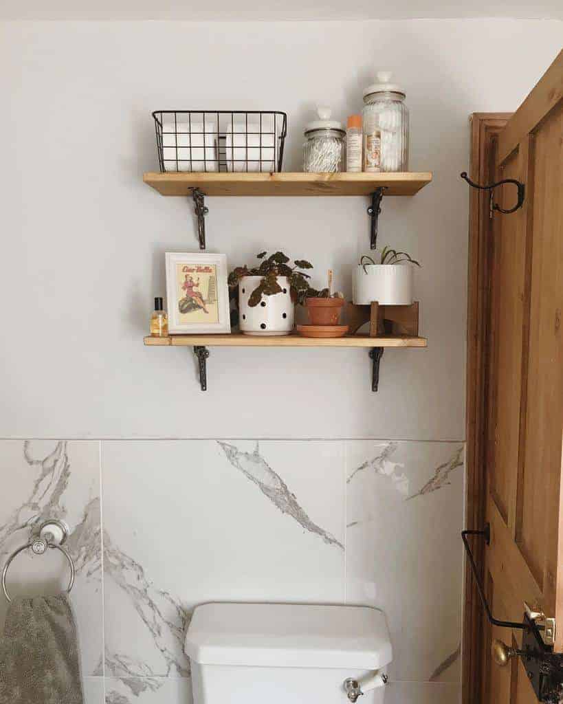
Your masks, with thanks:
M 346 704 L 347 679 L 382 704 L 393 653 L 377 609 L 213 603 L 194 610 L 186 655 L 194 704 Z

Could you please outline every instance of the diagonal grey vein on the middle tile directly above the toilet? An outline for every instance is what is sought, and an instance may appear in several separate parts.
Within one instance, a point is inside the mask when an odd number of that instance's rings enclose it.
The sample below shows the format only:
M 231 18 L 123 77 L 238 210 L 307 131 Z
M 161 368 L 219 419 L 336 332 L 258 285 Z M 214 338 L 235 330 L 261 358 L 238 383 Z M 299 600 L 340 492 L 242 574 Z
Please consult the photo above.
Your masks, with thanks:
M 339 540 L 313 522 L 305 510 L 301 508 L 295 494 L 291 493 L 284 480 L 272 470 L 272 467 L 260 455 L 259 443 L 256 443 L 253 453 L 243 452 L 236 446 L 220 440 L 217 443 L 224 451 L 229 463 L 256 484 L 262 494 L 267 496 L 281 513 L 291 516 L 305 530 L 320 536 L 327 545 L 344 549 Z

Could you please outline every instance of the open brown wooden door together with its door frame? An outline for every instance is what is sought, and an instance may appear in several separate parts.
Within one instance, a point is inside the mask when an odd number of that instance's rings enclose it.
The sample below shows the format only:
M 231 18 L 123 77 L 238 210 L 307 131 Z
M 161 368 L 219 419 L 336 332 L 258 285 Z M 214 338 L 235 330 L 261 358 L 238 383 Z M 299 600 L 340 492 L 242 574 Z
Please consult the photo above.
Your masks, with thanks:
M 468 316 L 468 527 L 493 615 L 521 622 L 524 602 L 555 618 L 563 652 L 563 52 L 510 118 L 474 115 L 472 177 L 525 184 L 524 206 L 490 210 L 472 194 Z M 501 208 L 512 185 L 496 189 Z M 464 703 L 537 701 L 519 658 L 495 665 L 491 627 L 466 579 Z

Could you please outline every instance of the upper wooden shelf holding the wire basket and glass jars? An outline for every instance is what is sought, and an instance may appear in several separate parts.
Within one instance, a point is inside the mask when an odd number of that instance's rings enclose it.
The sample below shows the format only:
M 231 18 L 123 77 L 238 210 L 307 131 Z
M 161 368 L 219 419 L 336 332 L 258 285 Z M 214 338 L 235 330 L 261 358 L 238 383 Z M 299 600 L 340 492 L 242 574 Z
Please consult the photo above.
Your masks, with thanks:
M 369 196 L 381 186 L 386 196 L 414 196 L 431 172 L 401 173 L 192 173 L 148 172 L 143 180 L 163 196 Z

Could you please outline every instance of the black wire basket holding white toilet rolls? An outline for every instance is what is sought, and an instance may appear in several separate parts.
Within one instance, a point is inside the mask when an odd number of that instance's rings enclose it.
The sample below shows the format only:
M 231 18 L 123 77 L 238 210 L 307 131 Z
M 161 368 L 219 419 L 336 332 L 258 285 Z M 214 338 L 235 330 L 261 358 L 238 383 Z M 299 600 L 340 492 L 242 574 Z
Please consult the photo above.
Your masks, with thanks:
M 287 115 L 275 111 L 153 113 L 160 171 L 281 171 Z

